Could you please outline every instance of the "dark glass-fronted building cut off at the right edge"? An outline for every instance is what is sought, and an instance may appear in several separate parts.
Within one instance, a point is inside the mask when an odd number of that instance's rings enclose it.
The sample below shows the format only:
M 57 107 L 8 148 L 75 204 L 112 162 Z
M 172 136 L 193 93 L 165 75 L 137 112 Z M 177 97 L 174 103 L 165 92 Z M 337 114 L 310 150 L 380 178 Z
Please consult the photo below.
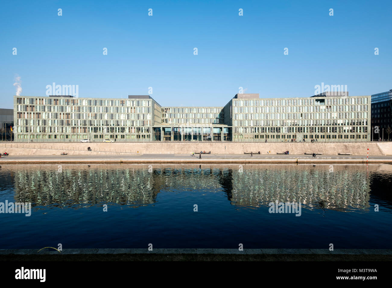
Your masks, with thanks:
M 387 140 L 392 136 L 391 110 L 392 89 L 387 92 L 372 95 L 372 130 L 373 132 L 375 130 L 379 132 L 374 132 L 374 139 L 381 138 Z

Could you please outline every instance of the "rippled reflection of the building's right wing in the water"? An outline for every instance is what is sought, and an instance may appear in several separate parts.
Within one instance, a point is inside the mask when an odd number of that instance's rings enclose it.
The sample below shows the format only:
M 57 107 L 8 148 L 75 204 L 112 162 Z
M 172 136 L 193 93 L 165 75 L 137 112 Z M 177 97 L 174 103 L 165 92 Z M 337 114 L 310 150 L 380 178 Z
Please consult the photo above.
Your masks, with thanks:
M 275 169 L 246 169 L 235 173 L 232 203 L 241 206 L 270 202 L 300 202 L 310 208 L 365 208 L 369 204 L 366 170 L 334 165 L 299 168 L 284 165 Z

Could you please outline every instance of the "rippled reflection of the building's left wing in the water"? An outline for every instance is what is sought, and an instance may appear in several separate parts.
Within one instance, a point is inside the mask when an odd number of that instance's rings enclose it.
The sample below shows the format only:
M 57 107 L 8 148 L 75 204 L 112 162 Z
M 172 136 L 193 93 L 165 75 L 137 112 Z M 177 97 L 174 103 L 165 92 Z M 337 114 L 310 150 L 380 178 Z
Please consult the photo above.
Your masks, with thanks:
M 55 167 L 55 168 L 54 168 Z M 159 190 L 145 170 L 138 169 L 18 169 L 15 201 L 67 206 L 98 203 L 145 205 L 155 202 Z M 86 206 L 83 205 L 83 206 Z

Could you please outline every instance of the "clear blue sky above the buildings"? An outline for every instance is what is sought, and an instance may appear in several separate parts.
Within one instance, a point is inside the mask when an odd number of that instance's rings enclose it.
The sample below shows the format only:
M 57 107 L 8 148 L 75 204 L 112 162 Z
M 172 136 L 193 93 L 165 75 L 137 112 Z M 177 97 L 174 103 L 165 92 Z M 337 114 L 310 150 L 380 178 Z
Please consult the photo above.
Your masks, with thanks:
M 13 108 L 15 74 L 21 95 L 45 96 L 52 82 L 98 98 L 152 87 L 163 106 L 223 106 L 238 87 L 260 97 L 311 96 L 321 82 L 350 95 L 384 92 L 391 8 L 390 0 L 2 1 L 0 107 Z

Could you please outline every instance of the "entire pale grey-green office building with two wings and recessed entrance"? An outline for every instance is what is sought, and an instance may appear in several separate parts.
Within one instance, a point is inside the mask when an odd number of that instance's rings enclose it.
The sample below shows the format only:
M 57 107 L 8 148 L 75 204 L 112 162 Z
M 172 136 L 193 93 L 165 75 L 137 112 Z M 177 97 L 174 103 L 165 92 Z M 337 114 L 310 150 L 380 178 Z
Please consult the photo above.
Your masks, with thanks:
M 224 107 L 162 107 L 128 99 L 14 96 L 15 141 L 310 141 L 370 139 L 370 96 L 236 94 Z

